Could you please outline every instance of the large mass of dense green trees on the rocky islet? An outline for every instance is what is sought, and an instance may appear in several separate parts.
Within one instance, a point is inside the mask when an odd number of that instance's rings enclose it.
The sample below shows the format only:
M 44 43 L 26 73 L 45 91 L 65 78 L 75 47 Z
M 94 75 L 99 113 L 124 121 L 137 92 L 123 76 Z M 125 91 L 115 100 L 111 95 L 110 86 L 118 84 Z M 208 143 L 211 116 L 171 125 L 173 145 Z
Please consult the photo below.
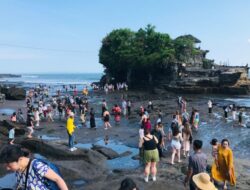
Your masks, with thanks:
M 171 80 L 179 65 L 188 64 L 197 55 L 203 57 L 204 51 L 196 48 L 196 43 L 200 40 L 192 35 L 171 39 L 151 25 L 137 32 L 116 29 L 102 40 L 99 62 L 107 78 L 118 82 L 149 84 L 163 78 Z

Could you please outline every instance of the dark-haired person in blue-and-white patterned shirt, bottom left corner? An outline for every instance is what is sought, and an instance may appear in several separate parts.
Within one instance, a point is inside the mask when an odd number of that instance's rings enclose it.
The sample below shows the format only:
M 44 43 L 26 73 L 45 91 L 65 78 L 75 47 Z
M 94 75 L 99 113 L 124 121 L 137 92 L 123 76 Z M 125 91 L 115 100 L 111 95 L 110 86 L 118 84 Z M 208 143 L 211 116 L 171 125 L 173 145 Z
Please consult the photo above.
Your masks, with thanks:
M 49 165 L 30 159 L 19 146 L 8 145 L 0 153 L 7 170 L 16 173 L 16 189 L 49 190 L 46 181 L 53 181 L 60 190 L 68 190 L 64 180 Z

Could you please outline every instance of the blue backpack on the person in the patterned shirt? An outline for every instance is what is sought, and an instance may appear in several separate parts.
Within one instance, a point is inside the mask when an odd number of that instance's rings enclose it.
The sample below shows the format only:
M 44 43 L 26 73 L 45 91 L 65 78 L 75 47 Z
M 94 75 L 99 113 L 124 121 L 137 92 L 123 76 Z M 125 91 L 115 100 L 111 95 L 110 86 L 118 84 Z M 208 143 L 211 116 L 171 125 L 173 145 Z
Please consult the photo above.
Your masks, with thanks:
M 38 161 L 38 162 L 42 162 L 43 164 L 48 165 L 50 169 L 52 169 L 57 175 L 62 177 L 62 174 L 61 174 L 59 168 L 55 164 L 51 163 L 48 160 L 44 160 L 44 159 L 36 158 L 35 160 Z M 49 180 L 47 178 L 45 179 L 45 185 L 50 190 L 59 190 L 59 187 L 57 186 L 57 184 L 54 181 L 51 181 L 51 180 Z

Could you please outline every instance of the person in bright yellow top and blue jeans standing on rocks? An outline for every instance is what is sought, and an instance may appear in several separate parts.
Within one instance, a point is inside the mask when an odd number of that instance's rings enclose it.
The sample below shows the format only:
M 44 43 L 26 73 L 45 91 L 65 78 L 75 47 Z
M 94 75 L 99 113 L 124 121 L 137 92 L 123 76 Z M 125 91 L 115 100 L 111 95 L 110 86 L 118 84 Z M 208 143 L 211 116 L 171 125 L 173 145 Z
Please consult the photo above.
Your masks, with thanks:
M 67 133 L 69 135 L 69 150 L 74 151 L 77 148 L 74 147 L 74 139 L 75 139 L 74 131 L 75 131 L 76 126 L 74 125 L 74 113 L 73 112 L 69 113 L 69 118 L 67 119 L 66 128 L 67 128 Z

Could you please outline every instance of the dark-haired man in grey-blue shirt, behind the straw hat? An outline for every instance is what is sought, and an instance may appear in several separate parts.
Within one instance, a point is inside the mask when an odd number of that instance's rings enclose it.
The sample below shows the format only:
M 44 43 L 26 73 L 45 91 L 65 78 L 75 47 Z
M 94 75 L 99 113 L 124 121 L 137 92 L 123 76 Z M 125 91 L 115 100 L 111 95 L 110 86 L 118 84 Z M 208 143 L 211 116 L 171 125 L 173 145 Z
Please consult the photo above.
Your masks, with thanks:
M 207 157 L 202 152 L 202 141 L 194 140 L 193 149 L 194 154 L 189 157 L 187 176 L 184 181 L 185 187 L 189 183 L 190 190 L 195 190 L 195 184 L 193 182 L 193 176 L 199 173 L 206 172 Z

